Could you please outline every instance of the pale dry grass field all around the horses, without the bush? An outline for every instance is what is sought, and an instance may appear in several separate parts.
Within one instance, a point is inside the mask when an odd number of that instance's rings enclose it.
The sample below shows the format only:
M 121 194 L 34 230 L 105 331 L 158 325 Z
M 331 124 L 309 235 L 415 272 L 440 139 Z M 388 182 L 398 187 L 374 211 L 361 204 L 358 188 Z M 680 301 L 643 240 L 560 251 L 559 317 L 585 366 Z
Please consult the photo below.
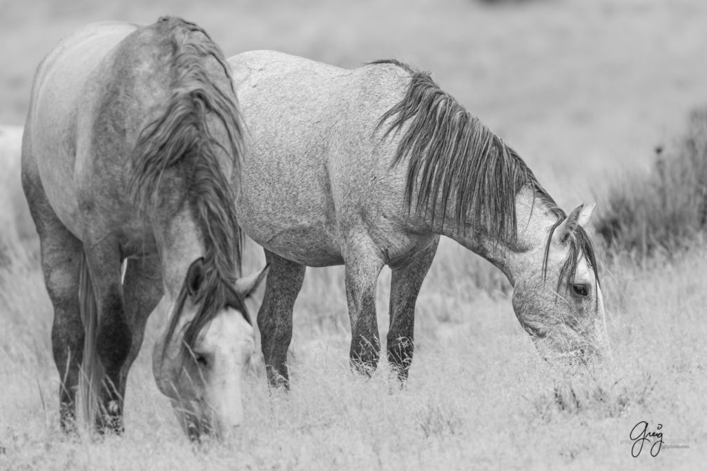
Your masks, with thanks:
M 566 209 L 597 201 L 601 212 L 607 182 L 645 172 L 655 146 L 670 148 L 687 113 L 707 104 L 701 0 L 6 0 L 0 123 L 22 124 L 33 70 L 66 32 L 165 13 L 204 26 L 227 56 L 278 49 L 346 67 L 395 57 L 433 71 Z M 0 165 L 8 215 L 17 181 Z M 0 217 L 3 235 L 23 233 L 13 221 Z M 310 269 L 295 306 L 291 393 L 270 395 L 256 358 L 240 435 L 198 448 L 153 381 L 160 313 L 129 379 L 124 436 L 61 433 L 52 309 L 33 244 L 18 242 L 0 268 L 0 470 L 700 469 L 707 460 L 707 243 L 699 240 L 652 258 L 601 256 L 614 357 L 578 370 L 539 359 L 503 275 L 444 241 L 419 297 L 404 390 L 385 364 L 366 380 L 349 372 L 343 272 Z M 246 262 L 247 270 L 262 263 L 253 244 Z M 386 269 L 382 337 L 389 280 Z M 631 456 L 629 434 L 641 421 L 649 431 L 662 424 L 655 458 L 649 446 Z

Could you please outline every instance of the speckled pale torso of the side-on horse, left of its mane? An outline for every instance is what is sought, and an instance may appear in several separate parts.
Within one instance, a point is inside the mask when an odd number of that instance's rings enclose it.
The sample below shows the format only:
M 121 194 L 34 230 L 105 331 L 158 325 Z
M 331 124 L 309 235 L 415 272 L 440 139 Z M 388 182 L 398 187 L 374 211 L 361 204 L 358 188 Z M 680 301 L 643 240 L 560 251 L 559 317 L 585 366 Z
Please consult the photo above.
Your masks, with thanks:
M 382 142 L 376 128 L 404 96 L 409 73 L 395 64 L 344 69 L 271 51 L 229 63 L 250 131 L 240 223 L 291 260 L 342 263 L 343 239 L 361 217 L 399 212 L 403 179 L 390 175 L 399 172 L 390 168 L 397 140 Z

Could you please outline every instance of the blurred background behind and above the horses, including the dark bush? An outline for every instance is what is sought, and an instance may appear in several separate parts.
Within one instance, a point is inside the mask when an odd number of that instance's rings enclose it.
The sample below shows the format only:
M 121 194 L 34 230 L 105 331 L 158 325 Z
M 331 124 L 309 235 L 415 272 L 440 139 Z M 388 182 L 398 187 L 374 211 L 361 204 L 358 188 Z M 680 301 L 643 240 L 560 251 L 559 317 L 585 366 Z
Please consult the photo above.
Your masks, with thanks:
M 612 250 L 670 251 L 704 225 L 704 112 L 683 130 L 707 103 L 701 1 L 3 0 L 0 12 L 0 124 L 23 123 L 34 69 L 67 32 L 174 14 L 226 56 L 276 49 L 432 71 L 563 208 L 598 201 Z

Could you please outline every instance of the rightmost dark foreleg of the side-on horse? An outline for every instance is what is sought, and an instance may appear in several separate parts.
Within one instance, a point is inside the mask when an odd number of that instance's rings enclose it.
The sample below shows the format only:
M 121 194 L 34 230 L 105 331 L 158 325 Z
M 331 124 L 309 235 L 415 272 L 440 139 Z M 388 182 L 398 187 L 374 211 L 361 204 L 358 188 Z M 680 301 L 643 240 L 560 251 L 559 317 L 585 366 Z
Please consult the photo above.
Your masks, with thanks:
M 401 383 L 407 380 L 414 351 L 415 303 L 437 252 L 439 238 L 406 266 L 394 268 L 390 279 L 388 362 Z

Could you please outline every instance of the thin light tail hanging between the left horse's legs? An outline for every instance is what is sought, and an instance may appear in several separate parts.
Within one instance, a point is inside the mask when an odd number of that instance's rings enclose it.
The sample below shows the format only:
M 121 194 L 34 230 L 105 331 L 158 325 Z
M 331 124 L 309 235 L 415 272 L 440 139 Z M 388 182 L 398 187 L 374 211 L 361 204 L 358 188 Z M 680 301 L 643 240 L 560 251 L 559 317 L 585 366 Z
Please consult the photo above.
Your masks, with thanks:
M 101 384 L 103 383 L 103 365 L 98 358 L 96 337 L 98 336 L 98 306 L 93 294 L 93 282 L 90 279 L 86 254 L 81 253 L 78 268 L 78 304 L 81 310 L 81 322 L 86 337 L 83 340 L 83 362 L 81 379 L 79 381 L 79 395 L 83 403 L 83 419 L 88 425 L 95 422 L 100 402 Z

